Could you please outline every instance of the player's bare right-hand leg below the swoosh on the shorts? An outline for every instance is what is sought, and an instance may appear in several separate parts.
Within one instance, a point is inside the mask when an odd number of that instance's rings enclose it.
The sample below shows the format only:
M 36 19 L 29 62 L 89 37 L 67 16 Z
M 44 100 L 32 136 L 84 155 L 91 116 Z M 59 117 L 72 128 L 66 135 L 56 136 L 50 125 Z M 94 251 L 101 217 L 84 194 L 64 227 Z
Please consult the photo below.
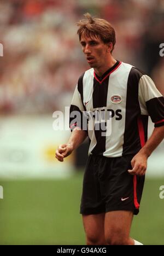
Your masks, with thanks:
M 106 213 L 105 237 L 108 245 L 134 245 L 134 240 L 130 238 L 132 219 L 130 211 Z

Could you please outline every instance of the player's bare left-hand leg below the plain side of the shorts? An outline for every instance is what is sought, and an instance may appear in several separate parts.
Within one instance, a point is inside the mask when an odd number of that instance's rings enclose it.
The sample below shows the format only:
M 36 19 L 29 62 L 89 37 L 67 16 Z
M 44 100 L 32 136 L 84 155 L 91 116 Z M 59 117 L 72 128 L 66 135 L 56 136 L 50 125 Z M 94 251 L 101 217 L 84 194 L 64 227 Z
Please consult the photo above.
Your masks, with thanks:
M 87 245 L 107 245 L 104 236 L 105 214 L 83 215 Z

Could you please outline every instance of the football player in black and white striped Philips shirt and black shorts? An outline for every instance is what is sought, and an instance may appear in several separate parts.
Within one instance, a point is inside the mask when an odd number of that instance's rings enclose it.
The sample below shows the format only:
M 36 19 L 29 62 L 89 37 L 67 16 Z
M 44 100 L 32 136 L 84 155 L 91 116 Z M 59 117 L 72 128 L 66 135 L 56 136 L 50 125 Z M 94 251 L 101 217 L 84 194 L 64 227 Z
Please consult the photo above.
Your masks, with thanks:
M 87 245 L 142 245 L 130 238 L 130 228 L 139 212 L 148 158 L 164 138 L 164 98 L 148 75 L 114 59 L 113 27 L 90 14 L 85 18 L 78 35 L 91 69 L 75 88 L 72 135 L 56 158 L 62 162 L 89 136 L 80 210 Z M 74 111 L 80 113 L 75 122 Z M 86 112 L 93 113 L 93 129 L 89 123 L 83 127 Z M 149 115 L 155 129 L 147 141 Z

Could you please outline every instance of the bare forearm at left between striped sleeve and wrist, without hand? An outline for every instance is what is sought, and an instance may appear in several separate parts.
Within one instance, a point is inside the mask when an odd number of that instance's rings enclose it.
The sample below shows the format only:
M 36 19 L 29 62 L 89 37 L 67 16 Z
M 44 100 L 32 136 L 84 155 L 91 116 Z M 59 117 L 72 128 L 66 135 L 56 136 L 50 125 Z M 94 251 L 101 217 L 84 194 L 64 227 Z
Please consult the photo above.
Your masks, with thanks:
M 71 134 L 71 137 L 69 138 L 68 144 L 72 144 L 73 150 L 78 148 L 81 143 L 85 140 L 87 137 L 87 132 L 80 130 L 79 127 L 76 127 Z

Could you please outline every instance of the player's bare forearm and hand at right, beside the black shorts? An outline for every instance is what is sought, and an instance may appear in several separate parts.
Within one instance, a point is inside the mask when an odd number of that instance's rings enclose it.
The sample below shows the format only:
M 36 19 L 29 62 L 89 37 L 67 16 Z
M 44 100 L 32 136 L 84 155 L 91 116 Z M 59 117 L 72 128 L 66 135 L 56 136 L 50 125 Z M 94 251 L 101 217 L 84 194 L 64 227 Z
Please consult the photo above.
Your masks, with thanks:
M 145 146 L 140 149 L 137 155 L 135 155 L 132 159 L 131 164 L 133 169 L 128 170 L 130 174 L 139 176 L 143 176 L 145 174 L 147 171 L 148 158 L 156 149 L 156 147 L 159 146 L 163 138 L 164 126 L 156 127 Z

